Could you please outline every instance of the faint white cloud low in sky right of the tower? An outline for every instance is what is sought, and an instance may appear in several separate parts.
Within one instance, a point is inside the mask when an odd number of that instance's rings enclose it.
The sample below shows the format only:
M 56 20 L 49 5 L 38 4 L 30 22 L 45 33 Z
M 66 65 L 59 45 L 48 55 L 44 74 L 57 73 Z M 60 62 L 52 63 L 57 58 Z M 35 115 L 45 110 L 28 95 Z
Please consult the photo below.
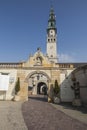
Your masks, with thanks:
M 75 59 L 73 56 L 70 56 L 69 54 L 59 54 L 58 55 L 59 62 L 74 62 Z

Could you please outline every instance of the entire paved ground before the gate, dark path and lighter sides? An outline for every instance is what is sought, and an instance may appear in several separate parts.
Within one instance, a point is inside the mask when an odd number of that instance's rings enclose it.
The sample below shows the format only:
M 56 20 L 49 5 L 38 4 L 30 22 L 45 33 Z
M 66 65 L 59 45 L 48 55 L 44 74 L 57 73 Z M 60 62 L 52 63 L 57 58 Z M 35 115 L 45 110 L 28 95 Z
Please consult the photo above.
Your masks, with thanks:
M 42 96 L 0 101 L 0 130 L 87 130 L 87 109 L 49 104 Z

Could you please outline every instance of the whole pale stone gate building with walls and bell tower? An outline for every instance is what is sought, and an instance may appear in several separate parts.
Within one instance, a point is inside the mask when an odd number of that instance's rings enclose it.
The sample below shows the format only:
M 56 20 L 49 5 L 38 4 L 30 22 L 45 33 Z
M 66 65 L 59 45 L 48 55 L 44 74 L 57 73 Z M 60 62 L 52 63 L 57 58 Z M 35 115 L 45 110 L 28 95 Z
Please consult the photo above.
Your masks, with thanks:
M 0 63 L 0 99 L 28 100 L 29 94 L 43 94 L 46 87 L 50 92 L 55 80 L 60 86 L 60 98 L 63 102 L 74 99 L 72 72 L 86 63 L 58 63 L 57 28 L 53 8 L 50 10 L 47 27 L 47 54 L 38 48 L 29 59 L 19 63 Z M 15 95 L 15 85 L 20 79 L 20 91 Z M 48 94 L 49 96 L 50 94 Z

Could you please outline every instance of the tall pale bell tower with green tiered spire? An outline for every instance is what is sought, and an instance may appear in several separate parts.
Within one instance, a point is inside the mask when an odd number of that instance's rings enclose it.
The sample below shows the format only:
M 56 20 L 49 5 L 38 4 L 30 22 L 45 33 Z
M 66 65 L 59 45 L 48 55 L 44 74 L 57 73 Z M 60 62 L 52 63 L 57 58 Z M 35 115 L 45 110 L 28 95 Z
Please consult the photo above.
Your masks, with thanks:
M 57 28 L 53 8 L 50 9 L 47 27 L 47 56 L 50 62 L 57 63 Z

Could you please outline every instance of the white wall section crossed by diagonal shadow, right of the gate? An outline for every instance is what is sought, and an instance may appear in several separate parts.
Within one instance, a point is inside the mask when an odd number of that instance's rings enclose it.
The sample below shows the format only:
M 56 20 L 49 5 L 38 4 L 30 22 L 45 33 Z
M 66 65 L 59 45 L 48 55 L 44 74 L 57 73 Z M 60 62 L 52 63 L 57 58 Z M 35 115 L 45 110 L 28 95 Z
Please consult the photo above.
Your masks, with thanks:
M 72 102 L 74 99 L 74 91 L 71 89 L 71 72 L 72 70 L 66 70 L 66 73 L 60 74 L 60 96 L 62 102 Z

